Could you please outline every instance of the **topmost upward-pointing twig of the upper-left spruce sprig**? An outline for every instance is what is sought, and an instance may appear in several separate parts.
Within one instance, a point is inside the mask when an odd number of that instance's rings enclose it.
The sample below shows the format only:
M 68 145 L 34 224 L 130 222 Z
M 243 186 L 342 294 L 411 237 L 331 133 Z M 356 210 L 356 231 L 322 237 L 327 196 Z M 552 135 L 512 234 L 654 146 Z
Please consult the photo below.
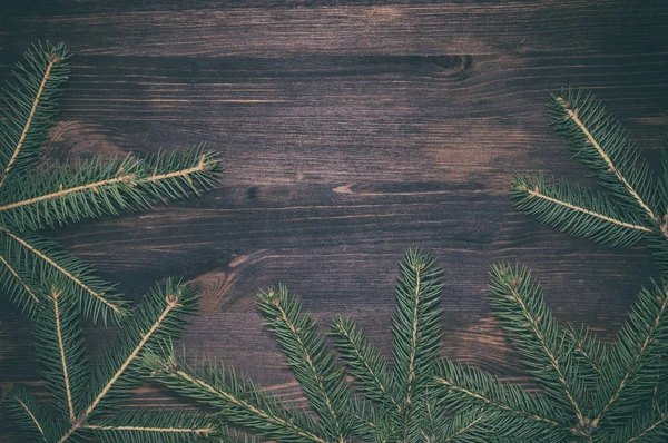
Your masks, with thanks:
M 67 48 L 61 43 L 33 45 L 23 66 L 13 71 L 17 85 L 3 89 L 6 109 L 0 110 L 0 187 L 10 173 L 30 167 L 39 155 L 62 83 L 69 76 Z

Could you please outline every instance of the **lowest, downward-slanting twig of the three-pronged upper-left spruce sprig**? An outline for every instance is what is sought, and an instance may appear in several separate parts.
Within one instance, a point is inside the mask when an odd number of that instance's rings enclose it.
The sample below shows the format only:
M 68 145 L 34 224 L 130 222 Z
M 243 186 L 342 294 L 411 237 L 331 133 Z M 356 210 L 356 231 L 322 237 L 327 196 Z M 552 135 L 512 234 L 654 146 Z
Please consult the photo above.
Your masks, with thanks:
M 94 322 L 101 315 L 106 324 L 109 313 L 115 318 L 127 314 L 126 302 L 114 293 L 114 286 L 91 276 L 90 265 L 68 255 L 53 242 L 30 233 L 18 236 L 0 225 L 0 250 L 4 252 L 7 262 L 31 269 L 31 277 L 36 279 L 65 279 L 79 294 L 84 315 Z

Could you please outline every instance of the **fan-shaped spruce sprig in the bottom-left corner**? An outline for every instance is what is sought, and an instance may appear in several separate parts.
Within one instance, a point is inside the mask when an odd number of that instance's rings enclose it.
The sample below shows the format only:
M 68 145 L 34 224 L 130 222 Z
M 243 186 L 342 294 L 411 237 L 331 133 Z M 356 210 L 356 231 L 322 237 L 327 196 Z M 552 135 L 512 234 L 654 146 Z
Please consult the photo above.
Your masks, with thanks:
M 212 419 L 194 411 L 118 411 L 145 377 L 141 358 L 167 338 L 177 338 L 197 309 L 195 291 L 177 279 L 157 285 L 135 315 L 125 317 L 110 348 L 89 365 L 77 293 L 52 283 L 33 317 L 40 373 L 52 394 L 47 412 L 21 386 L 6 396 L 4 408 L 33 441 L 198 442 L 218 435 Z M 47 288 L 43 289 L 47 292 Z M 48 303 L 47 303 L 48 302 Z

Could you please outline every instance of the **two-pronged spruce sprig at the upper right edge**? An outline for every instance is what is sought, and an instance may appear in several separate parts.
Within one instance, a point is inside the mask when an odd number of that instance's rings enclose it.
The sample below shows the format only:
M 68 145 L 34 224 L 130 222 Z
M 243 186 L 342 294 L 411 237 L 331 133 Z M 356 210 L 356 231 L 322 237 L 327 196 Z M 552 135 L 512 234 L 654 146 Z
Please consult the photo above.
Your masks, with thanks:
M 641 239 L 668 272 L 668 154 L 655 177 L 638 147 L 603 104 L 581 89 L 563 89 L 549 104 L 552 126 L 589 167 L 606 193 L 542 174 L 515 175 L 519 209 L 576 237 L 630 247 Z M 668 146 L 668 139 L 667 139 Z

